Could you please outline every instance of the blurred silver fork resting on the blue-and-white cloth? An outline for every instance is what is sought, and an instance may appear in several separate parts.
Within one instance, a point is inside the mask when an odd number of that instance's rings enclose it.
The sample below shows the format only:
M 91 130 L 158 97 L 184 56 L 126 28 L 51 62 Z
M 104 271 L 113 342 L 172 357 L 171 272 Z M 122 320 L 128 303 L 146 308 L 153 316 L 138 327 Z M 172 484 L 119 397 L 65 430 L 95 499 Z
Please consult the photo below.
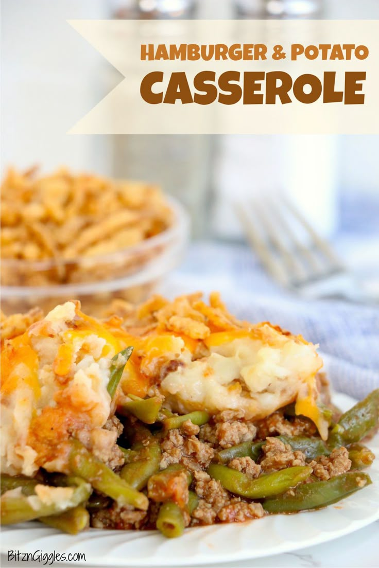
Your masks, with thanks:
M 236 203 L 245 236 L 266 270 L 307 298 L 365 302 L 353 274 L 283 194 Z

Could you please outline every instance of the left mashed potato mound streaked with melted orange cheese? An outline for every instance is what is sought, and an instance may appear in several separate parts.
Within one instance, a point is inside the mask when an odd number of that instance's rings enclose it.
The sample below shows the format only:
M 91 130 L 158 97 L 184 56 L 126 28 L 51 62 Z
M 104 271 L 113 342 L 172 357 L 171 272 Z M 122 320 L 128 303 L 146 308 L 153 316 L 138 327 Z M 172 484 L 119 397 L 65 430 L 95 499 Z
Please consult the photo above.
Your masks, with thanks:
M 96 439 L 90 433 L 110 415 L 110 360 L 119 349 L 118 339 L 82 314 L 78 302 L 57 306 L 5 342 L 3 472 L 33 475 L 39 466 L 64 471 L 64 442 L 70 436 L 88 444 Z M 113 432 L 106 435 L 109 441 L 114 437 Z

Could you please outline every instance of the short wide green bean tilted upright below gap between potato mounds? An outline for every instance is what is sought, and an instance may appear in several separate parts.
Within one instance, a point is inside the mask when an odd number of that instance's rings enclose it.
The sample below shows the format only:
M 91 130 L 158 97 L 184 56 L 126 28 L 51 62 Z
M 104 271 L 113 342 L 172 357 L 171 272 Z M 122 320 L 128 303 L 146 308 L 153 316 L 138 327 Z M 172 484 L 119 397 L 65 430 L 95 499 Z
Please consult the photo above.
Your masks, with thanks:
M 137 455 L 138 453 L 136 451 Z M 161 447 L 159 441 L 152 440 L 147 446 L 142 446 L 139 460 L 124 465 L 120 471 L 120 478 L 129 483 L 131 487 L 140 491 L 147 485 L 149 478 L 159 471 L 160 458 Z

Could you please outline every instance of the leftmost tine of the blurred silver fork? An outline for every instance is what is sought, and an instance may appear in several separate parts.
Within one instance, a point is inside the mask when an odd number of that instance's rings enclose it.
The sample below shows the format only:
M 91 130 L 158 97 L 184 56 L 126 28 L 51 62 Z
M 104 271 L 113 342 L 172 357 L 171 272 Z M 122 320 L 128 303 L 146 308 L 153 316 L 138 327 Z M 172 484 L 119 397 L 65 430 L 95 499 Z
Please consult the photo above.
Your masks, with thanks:
M 261 238 L 259 231 L 256 229 L 257 218 L 253 208 L 247 207 L 246 203 L 235 202 L 235 209 L 247 240 L 253 250 L 255 250 L 266 270 L 268 270 L 272 277 L 282 286 L 288 287 L 290 281 L 287 271 L 283 270 L 282 266 L 278 264 L 268 243 Z

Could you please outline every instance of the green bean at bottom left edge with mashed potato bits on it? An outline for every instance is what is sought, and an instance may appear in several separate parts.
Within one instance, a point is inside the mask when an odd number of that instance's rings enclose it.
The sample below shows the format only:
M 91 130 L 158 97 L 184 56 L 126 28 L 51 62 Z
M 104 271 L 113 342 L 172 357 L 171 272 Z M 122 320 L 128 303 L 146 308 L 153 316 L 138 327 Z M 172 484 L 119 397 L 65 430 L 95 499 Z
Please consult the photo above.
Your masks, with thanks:
M 76 486 L 72 487 L 73 491 L 70 498 L 64 498 L 61 502 L 44 503 L 38 495 L 26 496 L 22 492 L 19 495 L 9 495 L 9 492 L 6 492 L 1 497 L 1 524 L 10 525 L 39 517 L 57 515 L 67 509 L 77 507 L 89 498 L 91 487 L 82 479 L 70 478 L 70 481 L 74 481 Z M 56 487 L 47 487 L 52 491 L 56 490 Z

